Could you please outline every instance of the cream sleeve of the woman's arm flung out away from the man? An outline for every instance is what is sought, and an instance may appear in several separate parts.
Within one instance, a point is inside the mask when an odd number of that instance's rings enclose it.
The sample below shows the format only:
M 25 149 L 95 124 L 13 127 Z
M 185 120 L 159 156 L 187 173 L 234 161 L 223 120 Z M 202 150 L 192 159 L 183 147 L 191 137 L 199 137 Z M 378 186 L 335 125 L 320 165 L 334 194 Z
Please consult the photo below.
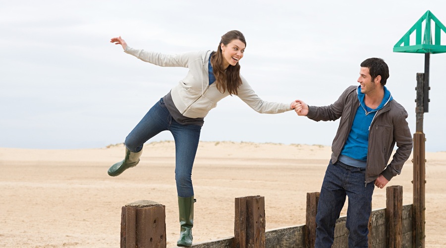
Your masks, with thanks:
M 191 60 L 201 58 L 201 53 L 199 51 L 185 52 L 180 54 L 162 54 L 142 49 L 134 49 L 127 46 L 124 52 L 126 54 L 133 55 L 144 62 L 169 67 L 188 67 L 188 64 Z

